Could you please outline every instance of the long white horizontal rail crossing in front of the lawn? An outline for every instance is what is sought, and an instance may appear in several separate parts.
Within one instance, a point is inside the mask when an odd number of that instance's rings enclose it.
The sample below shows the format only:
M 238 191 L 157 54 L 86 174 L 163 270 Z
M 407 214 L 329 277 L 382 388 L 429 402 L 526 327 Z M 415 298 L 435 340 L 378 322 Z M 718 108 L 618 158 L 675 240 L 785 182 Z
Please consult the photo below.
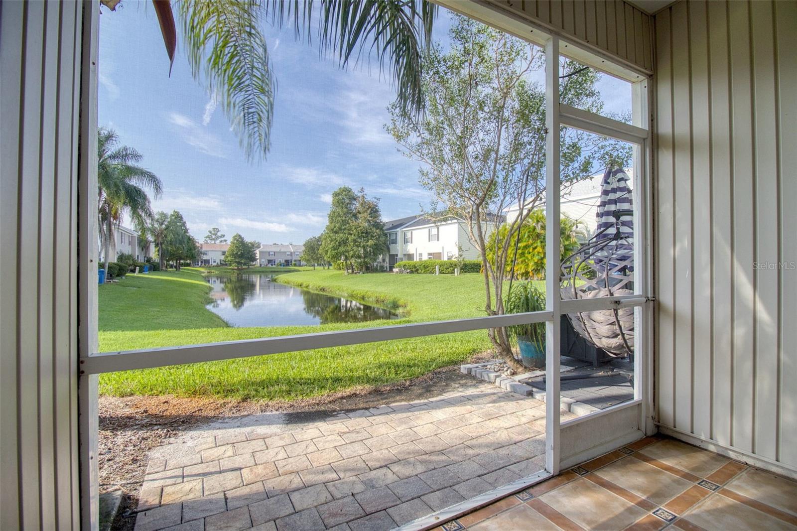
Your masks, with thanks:
M 526 325 L 552 321 L 548 311 L 512 313 L 453 321 L 432 321 L 410 325 L 356 328 L 336 332 L 316 332 L 296 336 L 263 337 L 253 340 L 222 341 L 210 344 L 183 345 L 179 347 L 147 348 L 121 352 L 101 352 L 80 358 L 80 374 L 129 371 L 139 368 L 166 367 L 195 364 L 204 361 L 233 360 L 281 352 L 297 352 L 314 348 L 341 347 L 349 344 L 375 343 L 377 341 L 436 336 L 454 332 L 468 332 L 502 326 Z

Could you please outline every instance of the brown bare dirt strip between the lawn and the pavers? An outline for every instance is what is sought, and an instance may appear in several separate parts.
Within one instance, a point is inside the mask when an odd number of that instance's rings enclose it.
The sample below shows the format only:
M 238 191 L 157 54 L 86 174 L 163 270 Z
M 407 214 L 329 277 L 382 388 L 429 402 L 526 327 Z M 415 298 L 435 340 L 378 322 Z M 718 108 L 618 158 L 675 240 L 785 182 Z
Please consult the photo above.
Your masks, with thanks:
M 475 356 L 472 363 L 489 360 Z M 100 397 L 100 492 L 122 489 L 124 498 L 112 529 L 132 529 L 138 494 L 147 470 L 147 454 L 167 439 L 219 419 L 283 412 L 296 422 L 338 411 L 367 409 L 440 395 L 470 381 L 459 366 L 439 368 L 413 380 L 379 387 L 359 387 L 291 402 L 183 398 L 172 395 Z M 298 418 L 297 418 L 298 417 Z

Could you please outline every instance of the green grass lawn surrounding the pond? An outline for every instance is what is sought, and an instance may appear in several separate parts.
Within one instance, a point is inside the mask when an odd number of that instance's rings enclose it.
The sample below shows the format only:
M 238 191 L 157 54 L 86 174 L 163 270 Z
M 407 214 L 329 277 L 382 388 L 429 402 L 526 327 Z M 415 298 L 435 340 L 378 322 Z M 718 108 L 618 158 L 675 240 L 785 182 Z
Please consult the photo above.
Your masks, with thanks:
M 247 272 L 265 268 L 248 269 Z M 205 308 L 209 287 L 196 269 L 128 275 L 100 286 L 103 352 L 398 325 L 484 315 L 484 281 L 452 275 L 344 275 L 311 269 L 280 281 L 398 309 L 398 321 L 273 328 L 229 328 Z M 221 273 L 223 268 L 213 268 Z M 457 364 L 489 348 L 484 331 L 322 348 L 238 360 L 119 372 L 100 377 L 108 395 L 213 395 L 238 399 L 297 399 L 353 387 L 392 384 Z

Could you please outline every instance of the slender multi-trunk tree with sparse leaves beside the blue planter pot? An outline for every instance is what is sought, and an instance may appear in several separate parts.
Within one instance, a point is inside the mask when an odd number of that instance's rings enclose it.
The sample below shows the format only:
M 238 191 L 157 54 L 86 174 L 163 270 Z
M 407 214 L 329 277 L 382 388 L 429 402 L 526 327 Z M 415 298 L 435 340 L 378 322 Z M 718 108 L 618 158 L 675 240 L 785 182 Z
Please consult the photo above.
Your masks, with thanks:
M 545 90 L 530 76 L 532 70 L 544 68 L 544 53 L 461 16 L 453 21 L 449 35 L 448 51 L 434 45 L 424 59 L 426 114 L 411 116 L 393 104 L 387 130 L 405 155 L 422 164 L 419 181 L 436 199 L 431 217 L 453 216 L 467 227 L 481 254 L 485 313 L 501 315 L 512 237 L 544 197 Z M 567 59 L 556 67 L 560 101 L 599 111 L 598 73 Z M 568 128 L 556 133 L 562 141 L 565 189 L 590 175 L 595 161 L 606 159 L 607 153 L 615 163 L 630 155 L 630 149 L 586 133 Z M 503 238 L 498 234 L 490 253 L 489 234 L 504 224 L 500 214 L 509 207 L 519 214 L 506 224 Z M 498 354 L 520 371 L 505 329 L 488 333 Z

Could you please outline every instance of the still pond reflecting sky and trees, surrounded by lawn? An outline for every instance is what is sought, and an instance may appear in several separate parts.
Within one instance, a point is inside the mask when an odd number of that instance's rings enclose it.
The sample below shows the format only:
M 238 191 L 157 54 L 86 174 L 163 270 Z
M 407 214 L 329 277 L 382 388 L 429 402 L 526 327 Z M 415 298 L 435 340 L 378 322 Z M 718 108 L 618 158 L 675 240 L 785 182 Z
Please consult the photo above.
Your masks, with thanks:
M 395 319 L 395 313 L 343 297 L 314 293 L 273 281 L 273 275 L 211 276 L 207 309 L 230 326 L 286 326 Z

